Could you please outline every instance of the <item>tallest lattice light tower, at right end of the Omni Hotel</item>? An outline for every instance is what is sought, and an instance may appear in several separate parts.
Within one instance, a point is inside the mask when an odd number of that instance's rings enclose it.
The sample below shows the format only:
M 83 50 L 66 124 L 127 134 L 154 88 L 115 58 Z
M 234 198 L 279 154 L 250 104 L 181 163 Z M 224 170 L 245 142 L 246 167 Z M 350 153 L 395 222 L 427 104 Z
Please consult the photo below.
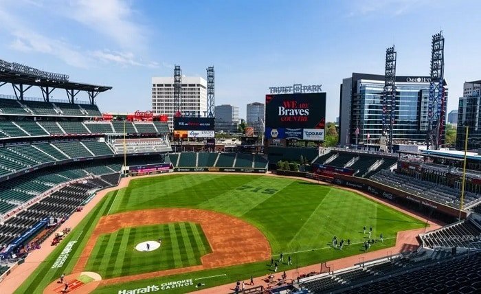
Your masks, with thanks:
M 443 31 L 432 36 L 431 41 L 431 82 L 429 84 L 429 96 L 427 101 L 427 133 L 426 148 L 429 145 L 439 149 L 443 142 L 445 131 L 445 38 Z

